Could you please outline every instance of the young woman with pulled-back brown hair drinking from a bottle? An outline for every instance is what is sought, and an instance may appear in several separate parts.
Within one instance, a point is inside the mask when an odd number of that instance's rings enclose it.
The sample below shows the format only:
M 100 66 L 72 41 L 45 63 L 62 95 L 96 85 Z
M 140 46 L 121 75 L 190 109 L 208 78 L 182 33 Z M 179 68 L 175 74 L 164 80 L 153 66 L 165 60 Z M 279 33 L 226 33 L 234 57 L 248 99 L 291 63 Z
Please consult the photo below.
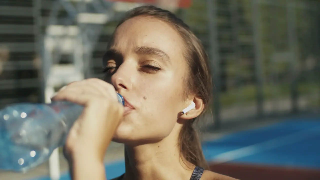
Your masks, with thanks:
M 193 127 L 212 94 L 208 61 L 200 40 L 171 12 L 129 11 L 103 57 L 105 81 L 75 82 L 53 98 L 85 107 L 66 143 L 73 179 L 106 179 L 103 158 L 111 140 L 125 144 L 119 180 L 233 179 L 204 170 Z

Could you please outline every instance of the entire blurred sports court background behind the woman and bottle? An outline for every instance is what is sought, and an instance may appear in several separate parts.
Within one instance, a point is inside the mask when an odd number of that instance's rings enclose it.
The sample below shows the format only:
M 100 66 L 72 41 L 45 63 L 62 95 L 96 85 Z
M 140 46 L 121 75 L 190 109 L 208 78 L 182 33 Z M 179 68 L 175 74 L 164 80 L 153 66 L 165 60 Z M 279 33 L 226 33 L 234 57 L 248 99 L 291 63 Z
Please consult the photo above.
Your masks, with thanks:
M 243 180 L 320 180 L 320 1 L 0 0 L 0 108 L 50 102 L 62 86 L 102 78 L 102 56 L 127 10 L 173 11 L 199 37 L 215 84 L 199 123 L 213 171 Z M 69 179 L 48 163 L 0 179 Z M 123 145 L 106 155 L 108 178 L 124 172 Z

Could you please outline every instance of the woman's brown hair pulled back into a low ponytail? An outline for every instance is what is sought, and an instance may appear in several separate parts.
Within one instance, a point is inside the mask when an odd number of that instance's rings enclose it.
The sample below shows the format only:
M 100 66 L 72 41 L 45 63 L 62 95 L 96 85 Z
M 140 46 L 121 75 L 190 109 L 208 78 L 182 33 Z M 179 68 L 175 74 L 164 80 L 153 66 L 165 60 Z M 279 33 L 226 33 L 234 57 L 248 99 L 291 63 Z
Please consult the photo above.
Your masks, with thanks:
M 188 64 L 188 74 L 185 78 L 185 98 L 196 95 L 204 102 L 204 111 L 208 109 L 212 94 L 212 78 L 209 70 L 209 59 L 201 41 L 193 34 L 189 26 L 172 12 L 152 5 L 140 6 L 126 13 L 119 27 L 124 21 L 137 16 L 155 18 L 170 24 L 184 41 L 184 58 Z M 113 37 L 111 38 L 113 39 Z M 203 112 L 204 112 L 203 111 Z M 201 143 L 196 128 L 193 126 L 198 118 L 187 121 L 179 134 L 180 156 L 196 166 L 208 168 L 204 159 Z

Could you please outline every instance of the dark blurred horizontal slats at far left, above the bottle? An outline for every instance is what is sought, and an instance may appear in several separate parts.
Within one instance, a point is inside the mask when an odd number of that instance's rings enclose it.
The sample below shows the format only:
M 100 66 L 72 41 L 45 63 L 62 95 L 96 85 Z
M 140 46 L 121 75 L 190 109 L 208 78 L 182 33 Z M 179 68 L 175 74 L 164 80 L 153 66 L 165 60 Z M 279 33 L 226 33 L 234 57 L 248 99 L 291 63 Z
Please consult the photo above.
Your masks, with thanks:
M 39 101 L 35 21 L 32 0 L 0 1 L 0 107 Z

